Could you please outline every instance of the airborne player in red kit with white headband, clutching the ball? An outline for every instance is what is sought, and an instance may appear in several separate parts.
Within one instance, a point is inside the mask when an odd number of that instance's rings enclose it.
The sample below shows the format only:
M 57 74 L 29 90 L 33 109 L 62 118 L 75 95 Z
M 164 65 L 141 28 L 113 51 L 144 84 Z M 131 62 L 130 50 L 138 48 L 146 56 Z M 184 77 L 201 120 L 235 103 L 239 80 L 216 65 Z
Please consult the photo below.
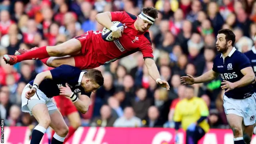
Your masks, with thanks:
M 124 11 L 103 12 L 96 15 L 96 20 L 112 30 L 112 36 L 115 39 L 112 42 L 106 42 L 102 39 L 102 31 L 88 31 L 82 36 L 72 38 L 58 46 L 18 50 L 16 56 L 4 55 L 3 58 L 10 65 L 23 60 L 39 59 L 51 67 L 68 64 L 80 69 L 91 69 L 140 51 L 150 76 L 160 86 L 169 90 L 168 82 L 160 79 L 158 68 L 153 59 L 148 32 L 156 18 L 158 18 L 158 11 L 153 7 L 142 8 L 139 16 Z M 112 21 L 122 22 L 124 30 L 114 26 Z

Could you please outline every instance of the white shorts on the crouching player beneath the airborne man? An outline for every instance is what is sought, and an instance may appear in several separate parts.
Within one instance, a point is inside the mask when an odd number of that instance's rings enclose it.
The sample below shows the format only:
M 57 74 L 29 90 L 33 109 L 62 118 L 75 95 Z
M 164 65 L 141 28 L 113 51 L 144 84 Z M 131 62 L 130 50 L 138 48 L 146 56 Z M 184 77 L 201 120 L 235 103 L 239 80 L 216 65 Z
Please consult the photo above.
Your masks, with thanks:
M 47 98 L 46 95 L 39 88 L 36 90 L 36 94 L 34 94 L 34 96 L 32 96 L 30 100 L 28 100 L 25 97 L 25 95 L 26 95 L 26 92 L 30 90 L 30 87 L 31 85 L 27 84 L 21 94 L 22 112 L 29 112 L 30 115 L 32 115 L 32 108 L 36 104 L 40 104 L 40 103 L 46 104 L 48 111 L 58 110 L 57 106 L 54 104 L 54 102 L 52 102 L 52 98 Z

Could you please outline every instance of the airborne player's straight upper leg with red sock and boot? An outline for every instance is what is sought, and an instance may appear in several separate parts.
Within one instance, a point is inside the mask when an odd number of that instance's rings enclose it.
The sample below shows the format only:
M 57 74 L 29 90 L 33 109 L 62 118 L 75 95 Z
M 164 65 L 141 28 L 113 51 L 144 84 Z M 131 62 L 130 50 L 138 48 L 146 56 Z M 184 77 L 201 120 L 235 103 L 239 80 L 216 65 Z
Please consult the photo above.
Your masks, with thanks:
M 4 55 L 3 58 L 7 64 L 13 65 L 23 60 L 41 60 L 50 56 L 67 56 L 70 54 L 81 53 L 81 42 L 75 38 L 68 40 L 57 46 L 43 46 L 40 48 L 34 48 L 27 51 L 20 51 L 17 56 Z

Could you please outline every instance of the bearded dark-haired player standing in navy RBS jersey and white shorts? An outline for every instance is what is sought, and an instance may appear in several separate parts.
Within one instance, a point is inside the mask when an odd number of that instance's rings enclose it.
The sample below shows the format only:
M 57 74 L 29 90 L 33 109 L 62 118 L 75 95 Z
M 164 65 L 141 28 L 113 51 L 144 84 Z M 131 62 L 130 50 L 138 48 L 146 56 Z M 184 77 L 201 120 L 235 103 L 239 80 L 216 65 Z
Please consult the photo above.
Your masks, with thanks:
M 202 76 L 181 77 L 182 84 L 195 84 L 221 76 L 225 89 L 224 110 L 234 134 L 234 144 L 250 144 L 256 116 L 256 94 L 252 82 L 254 71 L 249 59 L 234 48 L 236 36 L 232 30 L 218 31 L 216 47 L 221 54 L 214 58 L 212 70 Z

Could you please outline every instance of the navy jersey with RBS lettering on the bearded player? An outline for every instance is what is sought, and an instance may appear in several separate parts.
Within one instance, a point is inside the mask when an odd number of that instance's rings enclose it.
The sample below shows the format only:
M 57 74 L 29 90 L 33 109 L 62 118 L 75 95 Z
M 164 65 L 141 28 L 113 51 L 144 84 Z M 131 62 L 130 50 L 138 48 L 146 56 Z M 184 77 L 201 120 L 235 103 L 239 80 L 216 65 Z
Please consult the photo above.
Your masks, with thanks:
M 244 76 L 240 70 L 249 66 L 251 66 L 249 59 L 244 54 L 236 50 L 236 48 L 233 48 L 226 58 L 223 58 L 222 54 L 219 54 L 214 58 L 212 70 L 219 73 L 222 80 L 236 82 Z M 250 97 L 253 93 L 253 86 L 252 84 L 249 84 L 247 86 L 225 92 L 225 95 L 228 98 L 244 99 Z

